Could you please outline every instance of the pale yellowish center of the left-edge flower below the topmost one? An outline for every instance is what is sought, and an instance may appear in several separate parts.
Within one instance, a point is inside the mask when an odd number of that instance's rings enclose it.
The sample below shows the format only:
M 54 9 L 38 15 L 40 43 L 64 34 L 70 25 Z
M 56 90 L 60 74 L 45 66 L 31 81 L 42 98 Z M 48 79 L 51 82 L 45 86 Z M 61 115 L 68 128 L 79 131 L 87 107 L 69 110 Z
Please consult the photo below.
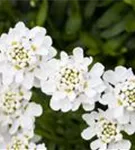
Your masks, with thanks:
M 4 93 L 2 99 L 2 109 L 7 114 L 14 113 L 21 106 L 22 97 L 18 93 L 9 91 Z

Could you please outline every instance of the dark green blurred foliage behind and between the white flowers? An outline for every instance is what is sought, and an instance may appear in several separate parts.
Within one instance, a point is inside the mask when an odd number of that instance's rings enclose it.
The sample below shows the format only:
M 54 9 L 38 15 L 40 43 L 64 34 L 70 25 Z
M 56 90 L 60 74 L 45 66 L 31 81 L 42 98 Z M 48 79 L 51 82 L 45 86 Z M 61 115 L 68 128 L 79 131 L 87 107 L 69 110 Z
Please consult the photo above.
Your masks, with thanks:
M 106 68 L 135 68 L 135 0 L 0 0 L 0 33 L 20 20 L 28 27 L 44 26 L 58 52 L 70 54 L 81 46 L 85 55 L 92 55 Z M 89 142 L 80 137 L 86 127 L 82 109 L 53 112 L 49 97 L 39 89 L 33 89 L 32 100 L 44 108 L 35 132 L 43 137 L 48 150 L 89 149 Z M 134 136 L 130 139 L 135 141 Z

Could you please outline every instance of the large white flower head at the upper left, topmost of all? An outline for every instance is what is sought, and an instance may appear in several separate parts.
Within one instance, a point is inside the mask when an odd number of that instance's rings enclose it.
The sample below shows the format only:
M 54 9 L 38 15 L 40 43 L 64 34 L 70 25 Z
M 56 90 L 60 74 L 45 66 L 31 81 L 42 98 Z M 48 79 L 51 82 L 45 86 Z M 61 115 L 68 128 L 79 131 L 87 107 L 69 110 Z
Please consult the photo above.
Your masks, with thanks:
M 30 89 L 37 85 L 37 69 L 56 55 L 52 39 L 42 27 L 31 30 L 22 22 L 0 38 L 0 71 L 5 85 L 13 81 Z M 36 81 L 35 81 L 36 80 Z

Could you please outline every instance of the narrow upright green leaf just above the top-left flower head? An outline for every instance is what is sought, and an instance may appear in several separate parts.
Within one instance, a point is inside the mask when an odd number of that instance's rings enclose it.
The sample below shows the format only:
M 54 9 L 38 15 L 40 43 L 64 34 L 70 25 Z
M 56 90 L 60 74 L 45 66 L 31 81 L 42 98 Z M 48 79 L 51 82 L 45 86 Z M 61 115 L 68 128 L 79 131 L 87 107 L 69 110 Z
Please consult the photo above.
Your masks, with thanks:
M 38 11 L 37 17 L 36 17 L 36 24 L 39 26 L 43 26 L 48 13 L 48 1 L 43 0 L 43 2 L 40 5 L 40 9 Z

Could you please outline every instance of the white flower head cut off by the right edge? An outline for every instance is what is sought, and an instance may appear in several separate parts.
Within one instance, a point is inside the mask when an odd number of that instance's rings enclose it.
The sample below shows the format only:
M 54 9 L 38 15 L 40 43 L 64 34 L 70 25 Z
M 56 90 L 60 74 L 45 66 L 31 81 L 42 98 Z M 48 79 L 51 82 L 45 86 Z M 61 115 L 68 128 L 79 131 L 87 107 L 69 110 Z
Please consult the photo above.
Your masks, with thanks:
M 114 109 L 114 116 L 128 134 L 135 132 L 135 76 L 130 69 L 118 66 L 103 76 L 108 88 L 101 102 Z

